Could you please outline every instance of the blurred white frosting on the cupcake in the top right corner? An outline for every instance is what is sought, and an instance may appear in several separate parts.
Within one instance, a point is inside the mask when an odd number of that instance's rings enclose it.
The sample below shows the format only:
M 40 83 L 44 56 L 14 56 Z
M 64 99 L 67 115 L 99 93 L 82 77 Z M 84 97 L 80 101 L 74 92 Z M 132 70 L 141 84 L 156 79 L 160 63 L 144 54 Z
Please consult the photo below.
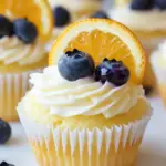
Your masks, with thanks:
M 110 15 L 134 30 L 166 30 L 166 21 L 164 21 L 166 20 L 166 11 L 159 9 L 137 11 L 129 9 L 128 6 L 122 6 L 111 9 Z

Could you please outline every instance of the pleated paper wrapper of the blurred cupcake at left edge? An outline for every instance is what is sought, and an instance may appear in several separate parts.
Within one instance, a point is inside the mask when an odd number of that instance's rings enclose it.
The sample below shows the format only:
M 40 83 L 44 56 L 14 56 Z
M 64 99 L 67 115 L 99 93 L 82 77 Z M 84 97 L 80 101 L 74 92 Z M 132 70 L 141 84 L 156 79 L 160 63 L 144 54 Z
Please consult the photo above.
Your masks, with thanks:
M 30 87 L 29 76 L 33 72 L 41 70 L 23 72 L 19 74 L 0 74 L 0 117 L 6 121 L 17 121 L 18 113 L 15 106 L 24 96 Z

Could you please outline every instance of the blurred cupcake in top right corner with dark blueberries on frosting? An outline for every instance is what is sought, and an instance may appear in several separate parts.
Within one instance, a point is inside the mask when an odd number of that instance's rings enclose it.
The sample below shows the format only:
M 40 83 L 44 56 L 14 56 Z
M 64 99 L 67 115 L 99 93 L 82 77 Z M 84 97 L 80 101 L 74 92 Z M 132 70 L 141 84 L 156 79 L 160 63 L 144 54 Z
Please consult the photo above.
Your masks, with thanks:
M 166 25 L 163 21 L 166 18 L 166 1 L 116 0 L 115 4 L 110 15 L 131 28 L 139 38 L 147 54 L 144 85 L 154 87 L 155 76 L 148 60 L 155 46 L 166 37 Z

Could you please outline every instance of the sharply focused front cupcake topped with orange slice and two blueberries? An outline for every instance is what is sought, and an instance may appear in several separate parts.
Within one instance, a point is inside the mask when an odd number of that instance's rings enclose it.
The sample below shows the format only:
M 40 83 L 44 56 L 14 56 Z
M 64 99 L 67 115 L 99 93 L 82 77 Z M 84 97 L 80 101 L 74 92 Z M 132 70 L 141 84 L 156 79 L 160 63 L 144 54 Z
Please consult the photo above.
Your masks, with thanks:
M 135 35 L 108 19 L 82 20 L 58 38 L 49 61 L 18 106 L 39 165 L 132 166 L 151 118 Z

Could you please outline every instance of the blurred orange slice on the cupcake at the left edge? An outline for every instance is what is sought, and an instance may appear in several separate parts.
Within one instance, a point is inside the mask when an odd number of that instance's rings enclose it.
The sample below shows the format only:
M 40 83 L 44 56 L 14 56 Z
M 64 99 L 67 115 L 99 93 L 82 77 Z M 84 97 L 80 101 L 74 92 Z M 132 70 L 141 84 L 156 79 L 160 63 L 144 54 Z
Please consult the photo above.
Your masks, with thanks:
M 46 0 L 0 0 L 0 14 L 11 15 L 9 19 L 27 18 L 37 25 L 41 39 L 51 35 L 53 18 Z

